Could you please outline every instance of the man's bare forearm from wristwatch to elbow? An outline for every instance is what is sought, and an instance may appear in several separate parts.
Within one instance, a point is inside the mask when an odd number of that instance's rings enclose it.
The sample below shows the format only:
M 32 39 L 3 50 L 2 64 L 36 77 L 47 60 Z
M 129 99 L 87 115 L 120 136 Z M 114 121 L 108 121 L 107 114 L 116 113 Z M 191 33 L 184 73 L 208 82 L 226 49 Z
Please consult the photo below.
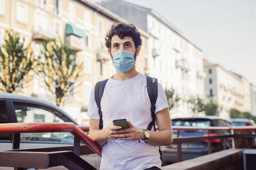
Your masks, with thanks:
M 149 138 L 145 140 L 152 145 L 168 146 L 172 144 L 173 135 L 170 130 L 148 131 Z

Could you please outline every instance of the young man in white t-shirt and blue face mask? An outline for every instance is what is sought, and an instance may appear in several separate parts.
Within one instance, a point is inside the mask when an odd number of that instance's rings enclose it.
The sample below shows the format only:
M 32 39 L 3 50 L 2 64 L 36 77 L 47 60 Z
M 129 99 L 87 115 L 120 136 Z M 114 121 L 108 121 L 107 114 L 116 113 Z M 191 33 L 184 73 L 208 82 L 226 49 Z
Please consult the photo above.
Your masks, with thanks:
M 147 78 L 135 68 L 141 46 L 140 32 L 133 24 L 117 23 L 105 39 L 116 74 L 108 79 L 101 98 L 103 129 L 99 128 L 94 88 L 88 111 L 90 137 L 102 146 L 100 169 L 160 169 L 158 146 L 171 145 L 173 141 L 169 106 L 158 83 L 155 104 L 158 131 L 146 130 L 152 121 Z M 126 118 L 128 129 L 113 124 L 113 120 L 121 118 Z

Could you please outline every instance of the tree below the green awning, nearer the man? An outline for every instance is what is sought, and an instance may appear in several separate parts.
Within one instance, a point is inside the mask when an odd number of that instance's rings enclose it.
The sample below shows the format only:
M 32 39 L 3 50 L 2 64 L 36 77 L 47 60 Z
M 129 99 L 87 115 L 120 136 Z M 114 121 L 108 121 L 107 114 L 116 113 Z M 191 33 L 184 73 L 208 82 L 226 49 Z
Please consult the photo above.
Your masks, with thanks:
M 81 77 L 83 62 L 77 64 L 76 51 L 59 39 L 46 40 L 42 45 L 45 62 L 40 72 L 45 77 L 46 86 L 55 95 L 56 104 L 60 106 L 73 92 L 75 82 Z

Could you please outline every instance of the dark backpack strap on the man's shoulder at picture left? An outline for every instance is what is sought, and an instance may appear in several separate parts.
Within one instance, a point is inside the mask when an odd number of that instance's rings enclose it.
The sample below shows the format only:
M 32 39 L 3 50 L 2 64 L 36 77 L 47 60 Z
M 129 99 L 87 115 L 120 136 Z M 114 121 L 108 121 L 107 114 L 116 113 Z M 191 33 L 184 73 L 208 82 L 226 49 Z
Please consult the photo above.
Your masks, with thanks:
M 100 127 L 100 129 L 103 128 L 103 120 L 102 120 L 102 112 L 101 112 L 100 101 L 101 101 L 101 98 L 102 98 L 104 88 L 105 88 L 105 85 L 106 85 L 107 81 L 108 81 L 108 79 L 97 82 L 96 85 L 95 85 L 95 88 L 94 88 L 94 99 L 95 99 L 95 102 L 96 102 L 96 104 L 99 108 L 99 115 L 100 115 L 99 127 Z

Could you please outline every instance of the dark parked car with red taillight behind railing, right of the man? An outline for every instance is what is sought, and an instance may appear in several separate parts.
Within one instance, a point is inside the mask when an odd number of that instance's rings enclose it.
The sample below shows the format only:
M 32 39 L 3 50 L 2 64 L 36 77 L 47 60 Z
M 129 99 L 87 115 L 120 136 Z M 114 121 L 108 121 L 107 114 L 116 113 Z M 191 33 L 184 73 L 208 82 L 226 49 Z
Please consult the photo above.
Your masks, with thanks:
M 206 116 L 206 117 L 187 117 L 187 118 L 174 118 L 172 120 L 172 126 L 194 126 L 207 128 L 210 126 L 232 126 L 232 124 L 219 118 L 217 116 Z M 179 138 L 182 137 L 198 137 L 216 134 L 230 134 L 228 130 L 209 131 L 207 130 L 180 130 Z M 173 131 L 174 138 L 177 137 L 177 130 Z M 227 148 L 231 148 L 231 139 L 227 139 L 226 143 L 223 140 L 214 139 L 211 140 L 212 152 L 222 150 L 226 145 Z M 163 146 L 161 147 L 163 153 L 163 166 L 172 164 L 178 161 L 177 145 Z M 182 160 L 192 159 L 199 156 L 206 155 L 208 153 L 207 140 L 198 141 L 191 143 L 182 143 L 181 145 Z

